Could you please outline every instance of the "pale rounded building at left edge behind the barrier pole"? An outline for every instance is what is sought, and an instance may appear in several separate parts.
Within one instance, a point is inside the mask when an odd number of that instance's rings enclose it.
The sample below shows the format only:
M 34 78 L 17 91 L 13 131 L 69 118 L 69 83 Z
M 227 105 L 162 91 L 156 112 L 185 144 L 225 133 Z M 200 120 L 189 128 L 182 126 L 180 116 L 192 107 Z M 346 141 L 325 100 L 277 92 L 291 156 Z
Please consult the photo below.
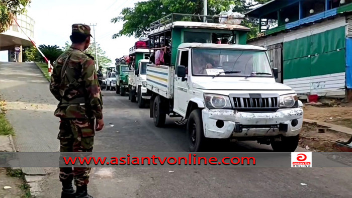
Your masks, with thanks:
M 17 17 L 17 22 L 21 26 L 21 29 L 14 23 L 8 31 L 0 34 L 0 51 L 9 52 L 9 61 L 15 61 L 15 48 L 19 47 L 21 53 L 19 54 L 19 62 L 22 62 L 22 50 L 24 47 L 33 46 L 30 37 L 33 40 L 34 37 L 34 25 L 35 22 L 32 18 L 27 15 L 20 15 Z M 27 36 L 28 37 L 27 37 Z

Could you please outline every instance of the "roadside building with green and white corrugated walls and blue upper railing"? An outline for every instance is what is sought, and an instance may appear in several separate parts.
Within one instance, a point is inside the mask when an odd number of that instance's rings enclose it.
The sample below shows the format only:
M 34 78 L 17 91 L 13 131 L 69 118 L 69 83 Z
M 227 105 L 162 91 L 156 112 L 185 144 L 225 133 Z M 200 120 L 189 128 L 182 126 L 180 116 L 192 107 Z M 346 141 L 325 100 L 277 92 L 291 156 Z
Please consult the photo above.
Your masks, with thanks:
M 273 0 L 246 15 L 261 30 L 248 44 L 268 48 L 279 81 L 303 98 L 352 88 L 352 0 Z

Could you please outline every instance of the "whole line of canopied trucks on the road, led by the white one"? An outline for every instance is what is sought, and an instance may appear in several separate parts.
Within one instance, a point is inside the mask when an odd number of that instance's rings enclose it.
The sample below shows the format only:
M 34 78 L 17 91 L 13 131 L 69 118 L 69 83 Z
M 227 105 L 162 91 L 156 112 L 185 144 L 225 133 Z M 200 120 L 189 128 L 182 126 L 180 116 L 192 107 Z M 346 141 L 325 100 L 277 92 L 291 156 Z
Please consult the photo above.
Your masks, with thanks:
M 184 18 L 191 21 L 178 20 Z M 199 22 L 203 18 L 212 23 Z M 191 152 L 211 146 L 214 139 L 255 140 L 277 152 L 293 152 L 303 104 L 292 88 L 276 82 L 278 70 L 271 68 L 267 50 L 246 45 L 248 31 L 219 24 L 213 16 L 171 14 L 150 24 L 150 52 L 163 50 L 170 61 L 156 65 L 135 58 L 126 80 L 130 100 L 140 100 L 142 108 L 150 99 L 156 127 L 165 124 L 167 115 L 181 118 L 177 123 L 187 126 Z M 116 71 L 121 73 L 121 67 Z

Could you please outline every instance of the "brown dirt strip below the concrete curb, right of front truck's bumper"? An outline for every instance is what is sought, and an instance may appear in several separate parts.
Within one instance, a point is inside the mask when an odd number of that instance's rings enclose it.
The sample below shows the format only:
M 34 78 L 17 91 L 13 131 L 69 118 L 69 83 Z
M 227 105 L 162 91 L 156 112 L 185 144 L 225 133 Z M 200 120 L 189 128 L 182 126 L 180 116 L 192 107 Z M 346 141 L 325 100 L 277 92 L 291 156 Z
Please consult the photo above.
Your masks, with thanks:
M 325 133 L 318 133 L 322 129 Z M 347 141 L 350 135 L 329 130 L 315 124 L 303 124 L 299 145 L 317 152 L 343 152 L 336 147 L 337 140 Z

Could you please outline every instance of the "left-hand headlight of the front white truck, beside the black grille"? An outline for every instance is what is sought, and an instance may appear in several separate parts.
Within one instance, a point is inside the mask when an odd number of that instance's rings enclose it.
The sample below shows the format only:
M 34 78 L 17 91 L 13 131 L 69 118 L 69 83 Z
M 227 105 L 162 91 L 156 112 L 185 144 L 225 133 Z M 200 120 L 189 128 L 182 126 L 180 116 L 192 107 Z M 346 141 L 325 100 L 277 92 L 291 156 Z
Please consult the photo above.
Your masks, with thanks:
M 204 100 L 208 109 L 232 109 L 230 98 L 226 95 L 205 93 Z

